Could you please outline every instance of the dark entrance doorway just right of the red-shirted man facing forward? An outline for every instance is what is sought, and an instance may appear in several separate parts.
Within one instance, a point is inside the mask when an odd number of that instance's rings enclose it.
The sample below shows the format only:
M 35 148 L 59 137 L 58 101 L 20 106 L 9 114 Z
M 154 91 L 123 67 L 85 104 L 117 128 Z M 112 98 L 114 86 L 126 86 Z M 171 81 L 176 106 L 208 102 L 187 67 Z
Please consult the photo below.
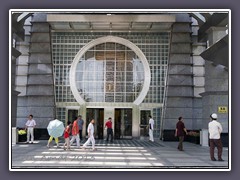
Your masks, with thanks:
M 115 109 L 114 138 L 132 138 L 132 109 Z

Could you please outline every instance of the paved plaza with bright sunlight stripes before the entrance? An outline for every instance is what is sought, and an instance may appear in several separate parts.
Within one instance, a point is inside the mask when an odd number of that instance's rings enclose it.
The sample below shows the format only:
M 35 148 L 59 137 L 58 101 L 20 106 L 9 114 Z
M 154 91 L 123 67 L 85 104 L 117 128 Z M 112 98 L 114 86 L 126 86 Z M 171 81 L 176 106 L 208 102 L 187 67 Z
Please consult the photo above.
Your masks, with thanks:
M 189 142 L 184 142 L 184 151 L 177 150 L 177 142 L 156 140 L 152 143 L 147 139 L 115 140 L 113 143 L 96 140 L 96 151 L 92 151 L 91 146 L 85 150 L 77 149 L 75 144 L 70 151 L 66 151 L 63 140 L 58 148 L 55 145 L 47 148 L 46 145 L 46 140 L 12 145 L 12 169 L 229 168 L 228 148 L 223 148 L 223 162 L 211 161 L 209 147 Z

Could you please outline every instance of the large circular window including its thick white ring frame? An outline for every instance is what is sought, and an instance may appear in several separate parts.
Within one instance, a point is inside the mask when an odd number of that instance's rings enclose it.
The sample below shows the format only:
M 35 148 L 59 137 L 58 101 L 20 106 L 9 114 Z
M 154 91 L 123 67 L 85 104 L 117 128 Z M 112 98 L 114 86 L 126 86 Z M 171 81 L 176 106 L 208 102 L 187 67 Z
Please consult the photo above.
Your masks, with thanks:
M 141 50 L 130 41 L 107 36 L 85 45 L 70 69 L 76 100 L 140 104 L 150 85 L 150 69 Z

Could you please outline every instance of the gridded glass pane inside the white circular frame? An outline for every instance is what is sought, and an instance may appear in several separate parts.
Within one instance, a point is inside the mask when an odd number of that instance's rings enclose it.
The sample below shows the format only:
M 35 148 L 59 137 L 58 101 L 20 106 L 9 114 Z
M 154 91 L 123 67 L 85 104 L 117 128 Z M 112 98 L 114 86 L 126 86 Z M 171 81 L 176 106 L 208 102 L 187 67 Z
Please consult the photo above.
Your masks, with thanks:
M 106 42 L 80 57 L 75 79 L 86 102 L 134 102 L 143 87 L 144 68 L 134 51 Z

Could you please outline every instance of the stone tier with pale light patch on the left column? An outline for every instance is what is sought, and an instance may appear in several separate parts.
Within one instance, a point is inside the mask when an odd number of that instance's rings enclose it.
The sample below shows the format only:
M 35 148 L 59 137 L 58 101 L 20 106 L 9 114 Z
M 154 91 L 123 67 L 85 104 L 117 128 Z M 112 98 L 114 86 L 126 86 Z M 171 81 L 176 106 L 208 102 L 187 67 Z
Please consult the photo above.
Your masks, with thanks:
M 31 64 L 29 66 L 30 74 L 51 74 L 52 70 L 51 64 Z

